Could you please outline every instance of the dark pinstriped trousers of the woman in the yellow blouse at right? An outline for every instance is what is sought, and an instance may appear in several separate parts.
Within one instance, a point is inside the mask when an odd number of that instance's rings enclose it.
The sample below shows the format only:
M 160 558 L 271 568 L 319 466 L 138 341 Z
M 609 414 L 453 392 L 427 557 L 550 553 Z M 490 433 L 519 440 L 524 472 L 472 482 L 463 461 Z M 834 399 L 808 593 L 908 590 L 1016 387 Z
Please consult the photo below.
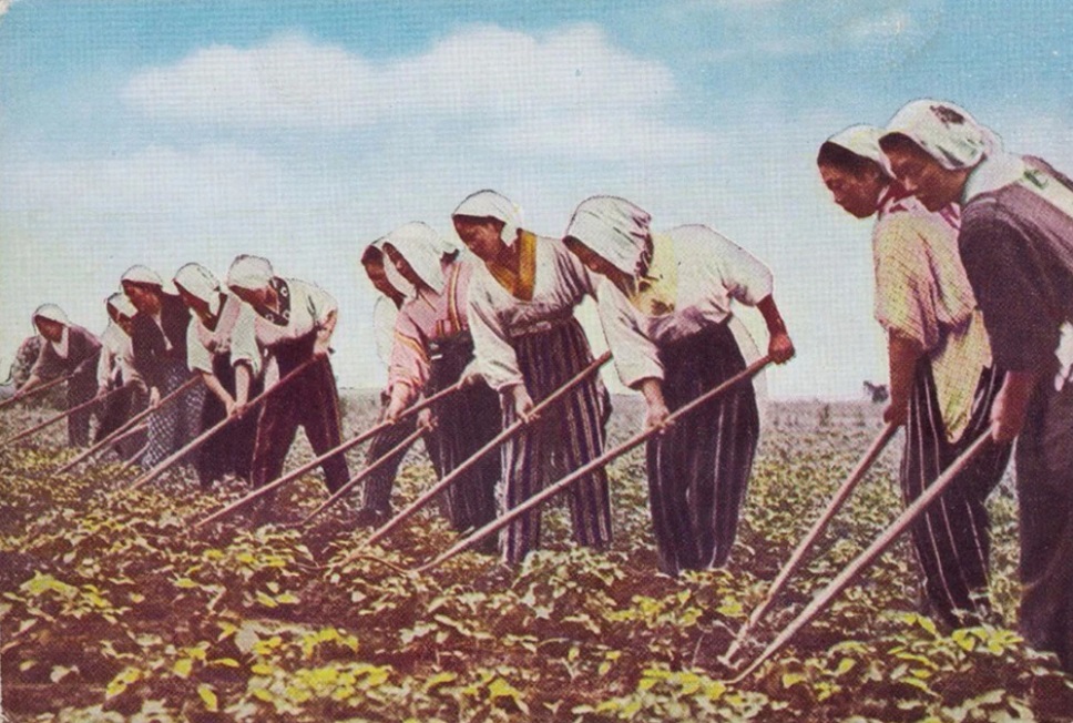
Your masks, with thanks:
M 991 424 L 1004 375 L 984 369 L 960 439 L 950 442 L 939 410 L 931 363 L 917 365 L 900 482 L 906 505 L 917 499 Z M 989 610 L 990 521 L 985 502 L 1002 478 L 1010 445 L 989 445 L 911 527 L 929 612 L 951 628 L 979 623 Z

